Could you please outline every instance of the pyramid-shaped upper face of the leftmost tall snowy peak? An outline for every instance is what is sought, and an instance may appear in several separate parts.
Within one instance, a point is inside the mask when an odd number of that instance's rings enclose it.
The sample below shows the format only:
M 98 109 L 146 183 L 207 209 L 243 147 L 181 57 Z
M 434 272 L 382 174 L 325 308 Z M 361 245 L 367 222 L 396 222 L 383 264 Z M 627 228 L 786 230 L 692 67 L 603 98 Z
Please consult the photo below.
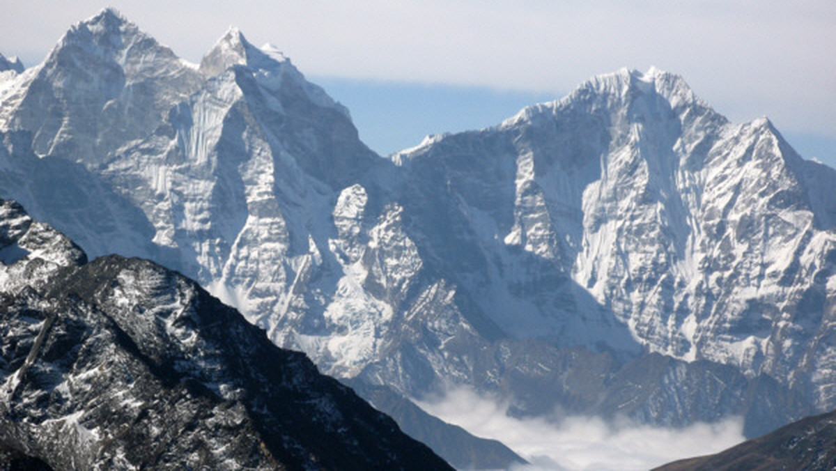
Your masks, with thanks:
M 113 10 L 70 28 L 3 97 L 0 126 L 33 132 L 39 156 L 98 166 L 153 131 L 200 74 Z

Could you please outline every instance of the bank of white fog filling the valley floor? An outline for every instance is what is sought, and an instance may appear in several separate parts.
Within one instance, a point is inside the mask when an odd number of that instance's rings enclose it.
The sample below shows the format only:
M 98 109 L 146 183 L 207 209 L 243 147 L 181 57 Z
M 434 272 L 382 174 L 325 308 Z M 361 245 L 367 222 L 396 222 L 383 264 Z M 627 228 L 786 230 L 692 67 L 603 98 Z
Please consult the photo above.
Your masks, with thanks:
M 739 417 L 686 428 L 652 427 L 626 418 L 614 422 L 598 417 L 518 419 L 507 416 L 507 403 L 466 388 L 416 402 L 426 412 L 478 437 L 505 443 L 531 463 L 515 471 L 649 469 L 716 453 L 745 440 Z

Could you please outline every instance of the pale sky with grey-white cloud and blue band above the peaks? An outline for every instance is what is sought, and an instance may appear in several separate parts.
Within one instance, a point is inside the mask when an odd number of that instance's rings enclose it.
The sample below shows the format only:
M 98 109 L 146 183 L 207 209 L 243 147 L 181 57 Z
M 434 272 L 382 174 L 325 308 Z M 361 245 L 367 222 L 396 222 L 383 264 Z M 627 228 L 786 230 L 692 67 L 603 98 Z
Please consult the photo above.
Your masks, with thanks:
M 192 61 L 232 25 L 278 45 L 381 153 L 655 65 L 731 120 L 769 116 L 803 156 L 836 166 L 833 0 L 4 0 L 0 52 L 33 65 L 107 4 Z

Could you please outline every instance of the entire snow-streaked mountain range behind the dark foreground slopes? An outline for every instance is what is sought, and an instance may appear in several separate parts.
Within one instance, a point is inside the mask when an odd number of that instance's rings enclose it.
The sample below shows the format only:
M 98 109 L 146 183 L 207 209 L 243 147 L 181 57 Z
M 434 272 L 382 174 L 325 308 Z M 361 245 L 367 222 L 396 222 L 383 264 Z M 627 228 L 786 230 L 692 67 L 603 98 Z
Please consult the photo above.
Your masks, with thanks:
M 675 74 L 388 158 L 234 28 L 188 64 L 105 10 L 4 80 L 0 197 L 196 279 L 372 402 L 464 385 L 750 436 L 836 408 L 836 172 Z

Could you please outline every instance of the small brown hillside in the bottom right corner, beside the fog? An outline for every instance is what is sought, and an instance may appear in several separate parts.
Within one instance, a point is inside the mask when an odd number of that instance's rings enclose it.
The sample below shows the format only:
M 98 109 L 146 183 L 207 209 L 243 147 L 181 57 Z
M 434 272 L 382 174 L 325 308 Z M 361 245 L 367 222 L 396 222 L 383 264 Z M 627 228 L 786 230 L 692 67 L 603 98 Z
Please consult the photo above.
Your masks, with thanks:
M 655 471 L 836 469 L 836 412 L 807 417 L 721 453 L 683 459 Z

